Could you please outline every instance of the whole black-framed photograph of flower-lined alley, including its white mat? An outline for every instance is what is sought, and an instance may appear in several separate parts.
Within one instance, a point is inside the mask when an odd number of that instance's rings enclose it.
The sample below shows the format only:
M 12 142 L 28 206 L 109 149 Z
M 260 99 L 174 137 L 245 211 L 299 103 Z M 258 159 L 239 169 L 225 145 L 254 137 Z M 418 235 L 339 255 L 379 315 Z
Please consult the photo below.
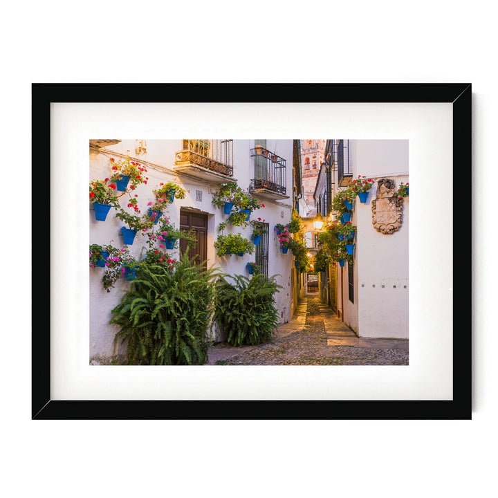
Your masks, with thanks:
M 470 84 L 33 84 L 32 418 L 472 418 L 470 242 L 453 242 L 454 178 L 471 181 L 471 107 Z M 338 192 L 352 192 L 350 207 L 333 205 Z M 286 235 L 295 218 L 302 247 Z M 458 223 L 471 228 L 470 208 Z M 319 235 L 333 227 L 347 252 L 334 237 L 319 263 Z M 289 337 L 297 322 L 311 331 L 299 303 L 319 296 L 311 306 L 329 313 L 320 326 L 335 356 L 306 359 L 309 342 L 298 361 L 208 362 L 197 329 L 214 314 L 210 347 L 221 344 L 233 308 L 188 293 L 176 308 L 183 328 L 135 320 L 147 299 L 130 289 L 149 285 L 140 265 L 165 266 L 156 291 L 168 306 L 197 285 L 179 273 L 186 248 L 241 282 L 276 275 L 274 320 Z M 176 345 L 154 345 L 150 333 L 175 326 Z M 258 351 L 276 358 L 275 344 Z M 344 360 L 351 344 L 368 359 Z

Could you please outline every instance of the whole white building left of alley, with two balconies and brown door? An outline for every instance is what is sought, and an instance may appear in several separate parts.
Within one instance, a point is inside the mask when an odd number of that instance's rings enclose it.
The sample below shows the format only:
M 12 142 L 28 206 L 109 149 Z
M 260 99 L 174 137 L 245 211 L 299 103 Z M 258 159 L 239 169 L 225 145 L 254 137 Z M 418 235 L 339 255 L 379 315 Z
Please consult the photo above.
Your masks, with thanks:
M 194 148 L 195 142 L 207 140 L 91 140 L 89 180 L 108 178 L 112 174 L 110 158 L 126 158 L 147 167 L 147 185 L 136 187 L 140 210 L 147 210 L 147 203 L 153 200 L 152 190 L 160 183 L 178 183 L 187 190 L 185 199 L 175 199 L 168 212 L 176 228 L 194 228 L 201 240 L 200 252 L 204 251 L 208 267 L 214 265 L 230 275 L 246 275 L 246 264 L 256 261 L 265 273 L 277 276 L 277 283 L 283 288 L 275 295 L 280 322 L 291 317 L 291 254 L 283 255 L 277 237 L 275 224 L 291 221 L 293 204 L 293 140 L 209 140 L 210 147 Z M 255 144 L 268 151 L 267 157 L 255 157 Z M 226 221 L 223 209 L 212 204 L 212 193 L 223 183 L 235 182 L 255 197 L 264 208 L 255 210 L 251 219 L 268 223 L 268 234 L 252 255 L 218 257 L 214 241 L 218 237 L 218 226 Z M 127 196 L 120 198 L 120 205 L 126 207 Z M 131 210 L 130 210 L 131 212 Z M 125 224 L 115 217 L 112 208 L 106 221 L 95 221 L 92 207 L 89 213 L 89 243 L 123 246 L 120 229 Z M 228 225 L 225 234 L 239 232 L 251 239 L 252 228 Z M 131 255 L 138 257 L 145 246 L 145 238 L 136 235 L 133 245 L 128 246 Z M 178 250 L 168 251 L 170 257 L 178 259 Z M 113 340 L 117 327 L 109 324 L 111 310 L 120 301 L 130 282 L 124 279 L 116 282 L 115 288 L 107 293 L 102 287 L 102 268 L 89 270 L 90 280 L 90 359 L 109 359 L 124 350 L 114 349 Z M 213 340 L 224 338 L 214 329 Z

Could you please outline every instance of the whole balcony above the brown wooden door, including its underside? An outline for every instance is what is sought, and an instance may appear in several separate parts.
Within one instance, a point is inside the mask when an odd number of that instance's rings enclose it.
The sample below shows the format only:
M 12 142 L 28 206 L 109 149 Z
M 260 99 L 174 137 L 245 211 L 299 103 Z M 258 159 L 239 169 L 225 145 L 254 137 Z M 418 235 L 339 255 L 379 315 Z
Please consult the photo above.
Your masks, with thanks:
M 216 183 L 231 181 L 233 140 L 183 140 L 183 149 L 175 155 L 174 169 Z

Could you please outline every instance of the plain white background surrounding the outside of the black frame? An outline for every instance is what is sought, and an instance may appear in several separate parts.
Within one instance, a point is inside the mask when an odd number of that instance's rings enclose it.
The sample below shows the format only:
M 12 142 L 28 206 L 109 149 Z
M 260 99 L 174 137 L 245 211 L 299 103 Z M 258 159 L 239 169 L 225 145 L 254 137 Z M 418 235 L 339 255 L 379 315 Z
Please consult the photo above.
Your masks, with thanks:
M 0 32 L 3 494 L 490 495 L 498 442 L 492 3 L 18 5 L 3 7 Z M 192 69 L 196 55 L 210 61 L 202 71 Z M 473 203 L 470 171 L 459 181 L 461 210 L 472 205 L 474 221 L 472 261 L 461 261 L 475 273 L 473 420 L 30 421 L 32 82 L 471 82 Z M 44 192 L 35 199 L 42 208 Z

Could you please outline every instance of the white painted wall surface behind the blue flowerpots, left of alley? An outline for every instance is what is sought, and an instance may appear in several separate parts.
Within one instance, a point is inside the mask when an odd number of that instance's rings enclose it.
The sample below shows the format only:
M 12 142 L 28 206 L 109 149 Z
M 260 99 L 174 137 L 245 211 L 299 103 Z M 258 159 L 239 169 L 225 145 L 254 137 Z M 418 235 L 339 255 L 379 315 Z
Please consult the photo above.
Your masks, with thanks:
M 112 174 L 109 158 L 116 160 L 122 156 L 129 156 L 132 160 L 147 167 L 147 185 L 138 185 L 134 194 L 138 194 L 138 206 L 141 212 L 147 210 L 147 203 L 153 200 L 152 190 L 157 188 L 161 182 L 174 181 L 187 190 L 185 199 L 175 199 L 169 205 L 166 216 L 170 222 L 179 228 L 179 215 L 181 208 L 193 208 L 208 215 L 208 267 L 214 265 L 221 268 L 224 273 L 230 275 L 246 275 L 248 272 L 246 264 L 255 261 L 255 254 L 218 257 L 214 249 L 214 241 L 218 236 L 218 225 L 228 217 L 223 214 L 223 210 L 216 208 L 212 204 L 212 193 L 219 190 L 221 183 L 216 183 L 185 176 L 174 171 L 175 154 L 183 149 L 183 140 L 147 140 L 147 154 L 136 156 L 135 140 L 122 140 L 115 145 L 103 147 L 98 152 L 91 151 L 89 180 L 103 179 Z M 239 187 L 248 192 L 251 178 L 254 178 L 254 158 L 251 157 L 251 150 L 255 146 L 255 140 L 234 140 L 233 142 L 233 165 L 234 174 L 232 181 L 237 180 Z M 293 185 L 293 140 L 267 140 L 266 148 L 274 154 L 286 159 L 286 187 L 287 199 L 268 199 L 262 196 L 255 197 L 264 203 L 264 208 L 255 210 L 251 214 L 251 219 L 265 219 L 269 223 L 268 239 L 268 275 L 277 276 L 277 283 L 283 288 L 275 295 L 275 304 L 279 310 L 280 322 L 288 322 L 291 318 L 291 264 L 292 255 L 289 252 L 283 255 L 279 242 L 275 237 L 275 224 L 288 223 L 291 221 L 292 210 L 292 185 Z M 120 156 L 121 155 L 121 156 Z M 227 178 L 230 180 L 230 177 Z M 201 192 L 202 200 L 198 200 Z M 120 204 L 126 206 L 129 197 L 126 195 L 120 198 Z M 92 208 L 90 208 L 92 211 Z M 89 243 L 108 244 L 122 248 L 122 236 L 120 229 L 124 223 L 114 215 L 116 211 L 111 208 L 106 221 L 95 221 L 93 212 L 89 216 Z M 233 227 L 228 225 L 225 234 L 239 232 L 247 239 L 252 240 L 252 228 Z M 129 246 L 131 255 L 138 257 L 140 250 L 147 249 L 145 238 L 137 234 L 133 245 Z M 178 259 L 178 250 L 167 251 L 170 257 Z M 107 293 L 102 287 L 103 268 L 91 268 L 90 270 L 90 359 L 109 358 L 116 353 L 124 353 L 121 348 L 114 349 L 113 340 L 118 331 L 117 326 L 110 325 L 111 310 L 120 301 L 123 293 L 129 289 L 130 282 L 124 279 L 118 280 L 114 288 Z M 223 340 L 220 333 L 214 328 L 213 340 Z

